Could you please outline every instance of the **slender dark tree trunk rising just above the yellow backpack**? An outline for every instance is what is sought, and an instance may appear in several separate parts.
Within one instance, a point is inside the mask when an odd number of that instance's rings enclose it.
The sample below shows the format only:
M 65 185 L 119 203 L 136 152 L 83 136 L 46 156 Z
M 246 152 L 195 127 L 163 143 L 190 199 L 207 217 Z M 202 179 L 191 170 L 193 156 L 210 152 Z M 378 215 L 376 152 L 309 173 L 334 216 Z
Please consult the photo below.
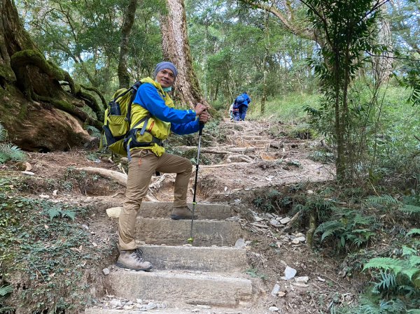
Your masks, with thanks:
M 130 43 L 130 33 L 136 16 L 137 0 L 131 0 L 125 12 L 125 19 L 121 27 L 120 62 L 118 63 L 118 80 L 120 88 L 129 87 L 130 75 L 127 71 L 127 55 Z

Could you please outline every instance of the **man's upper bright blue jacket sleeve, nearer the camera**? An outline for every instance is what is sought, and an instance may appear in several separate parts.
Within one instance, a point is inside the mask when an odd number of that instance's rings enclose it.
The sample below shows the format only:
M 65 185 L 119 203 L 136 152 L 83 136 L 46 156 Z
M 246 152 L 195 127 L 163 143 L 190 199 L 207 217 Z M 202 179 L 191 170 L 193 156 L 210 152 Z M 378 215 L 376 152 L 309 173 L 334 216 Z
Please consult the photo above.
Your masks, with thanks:
M 166 106 L 158 90 L 150 83 L 144 83 L 139 87 L 133 104 L 142 106 L 151 115 L 165 122 L 179 124 L 195 122 L 194 110 L 179 110 Z

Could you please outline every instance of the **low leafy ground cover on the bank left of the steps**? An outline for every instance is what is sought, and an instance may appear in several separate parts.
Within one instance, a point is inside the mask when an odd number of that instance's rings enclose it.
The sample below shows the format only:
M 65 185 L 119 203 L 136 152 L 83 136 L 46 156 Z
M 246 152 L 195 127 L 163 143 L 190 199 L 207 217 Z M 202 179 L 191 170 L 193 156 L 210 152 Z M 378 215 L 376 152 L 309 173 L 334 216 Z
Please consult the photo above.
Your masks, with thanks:
M 76 313 L 90 301 L 86 274 L 111 255 L 92 246 L 87 208 L 0 191 L 0 273 L 19 313 Z M 13 311 L 9 310 L 9 313 Z

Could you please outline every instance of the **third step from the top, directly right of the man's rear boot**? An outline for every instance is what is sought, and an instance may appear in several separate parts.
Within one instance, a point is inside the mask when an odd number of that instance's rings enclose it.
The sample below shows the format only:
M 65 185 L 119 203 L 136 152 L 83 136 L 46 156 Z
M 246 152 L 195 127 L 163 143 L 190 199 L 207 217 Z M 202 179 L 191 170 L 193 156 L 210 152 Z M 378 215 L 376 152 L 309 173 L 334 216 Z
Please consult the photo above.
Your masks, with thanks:
M 244 272 L 247 269 L 246 250 L 193 246 L 141 245 L 143 257 L 153 269 Z

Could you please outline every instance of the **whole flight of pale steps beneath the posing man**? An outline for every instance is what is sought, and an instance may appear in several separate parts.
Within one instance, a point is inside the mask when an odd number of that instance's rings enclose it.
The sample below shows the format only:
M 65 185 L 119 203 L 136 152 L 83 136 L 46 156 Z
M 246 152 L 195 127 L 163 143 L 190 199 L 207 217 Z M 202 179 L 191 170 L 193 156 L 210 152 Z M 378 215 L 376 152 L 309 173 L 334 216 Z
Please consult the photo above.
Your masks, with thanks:
M 209 220 L 194 220 L 193 245 L 188 245 L 190 220 L 167 219 L 170 203 L 145 202 L 137 217 L 137 240 L 143 257 L 153 264 L 150 272 L 111 266 L 105 277 L 107 293 L 136 302 L 153 300 L 165 306 L 151 313 L 252 313 L 253 285 L 245 274 L 246 250 L 234 248 L 244 236 L 230 206 L 198 204 L 197 213 Z M 155 213 L 153 217 L 153 213 Z M 200 215 L 200 217 L 203 217 Z M 194 306 L 207 306 L 197 310 Z M 143 311 L 96 306 L 85 314 L 134 314 Z

